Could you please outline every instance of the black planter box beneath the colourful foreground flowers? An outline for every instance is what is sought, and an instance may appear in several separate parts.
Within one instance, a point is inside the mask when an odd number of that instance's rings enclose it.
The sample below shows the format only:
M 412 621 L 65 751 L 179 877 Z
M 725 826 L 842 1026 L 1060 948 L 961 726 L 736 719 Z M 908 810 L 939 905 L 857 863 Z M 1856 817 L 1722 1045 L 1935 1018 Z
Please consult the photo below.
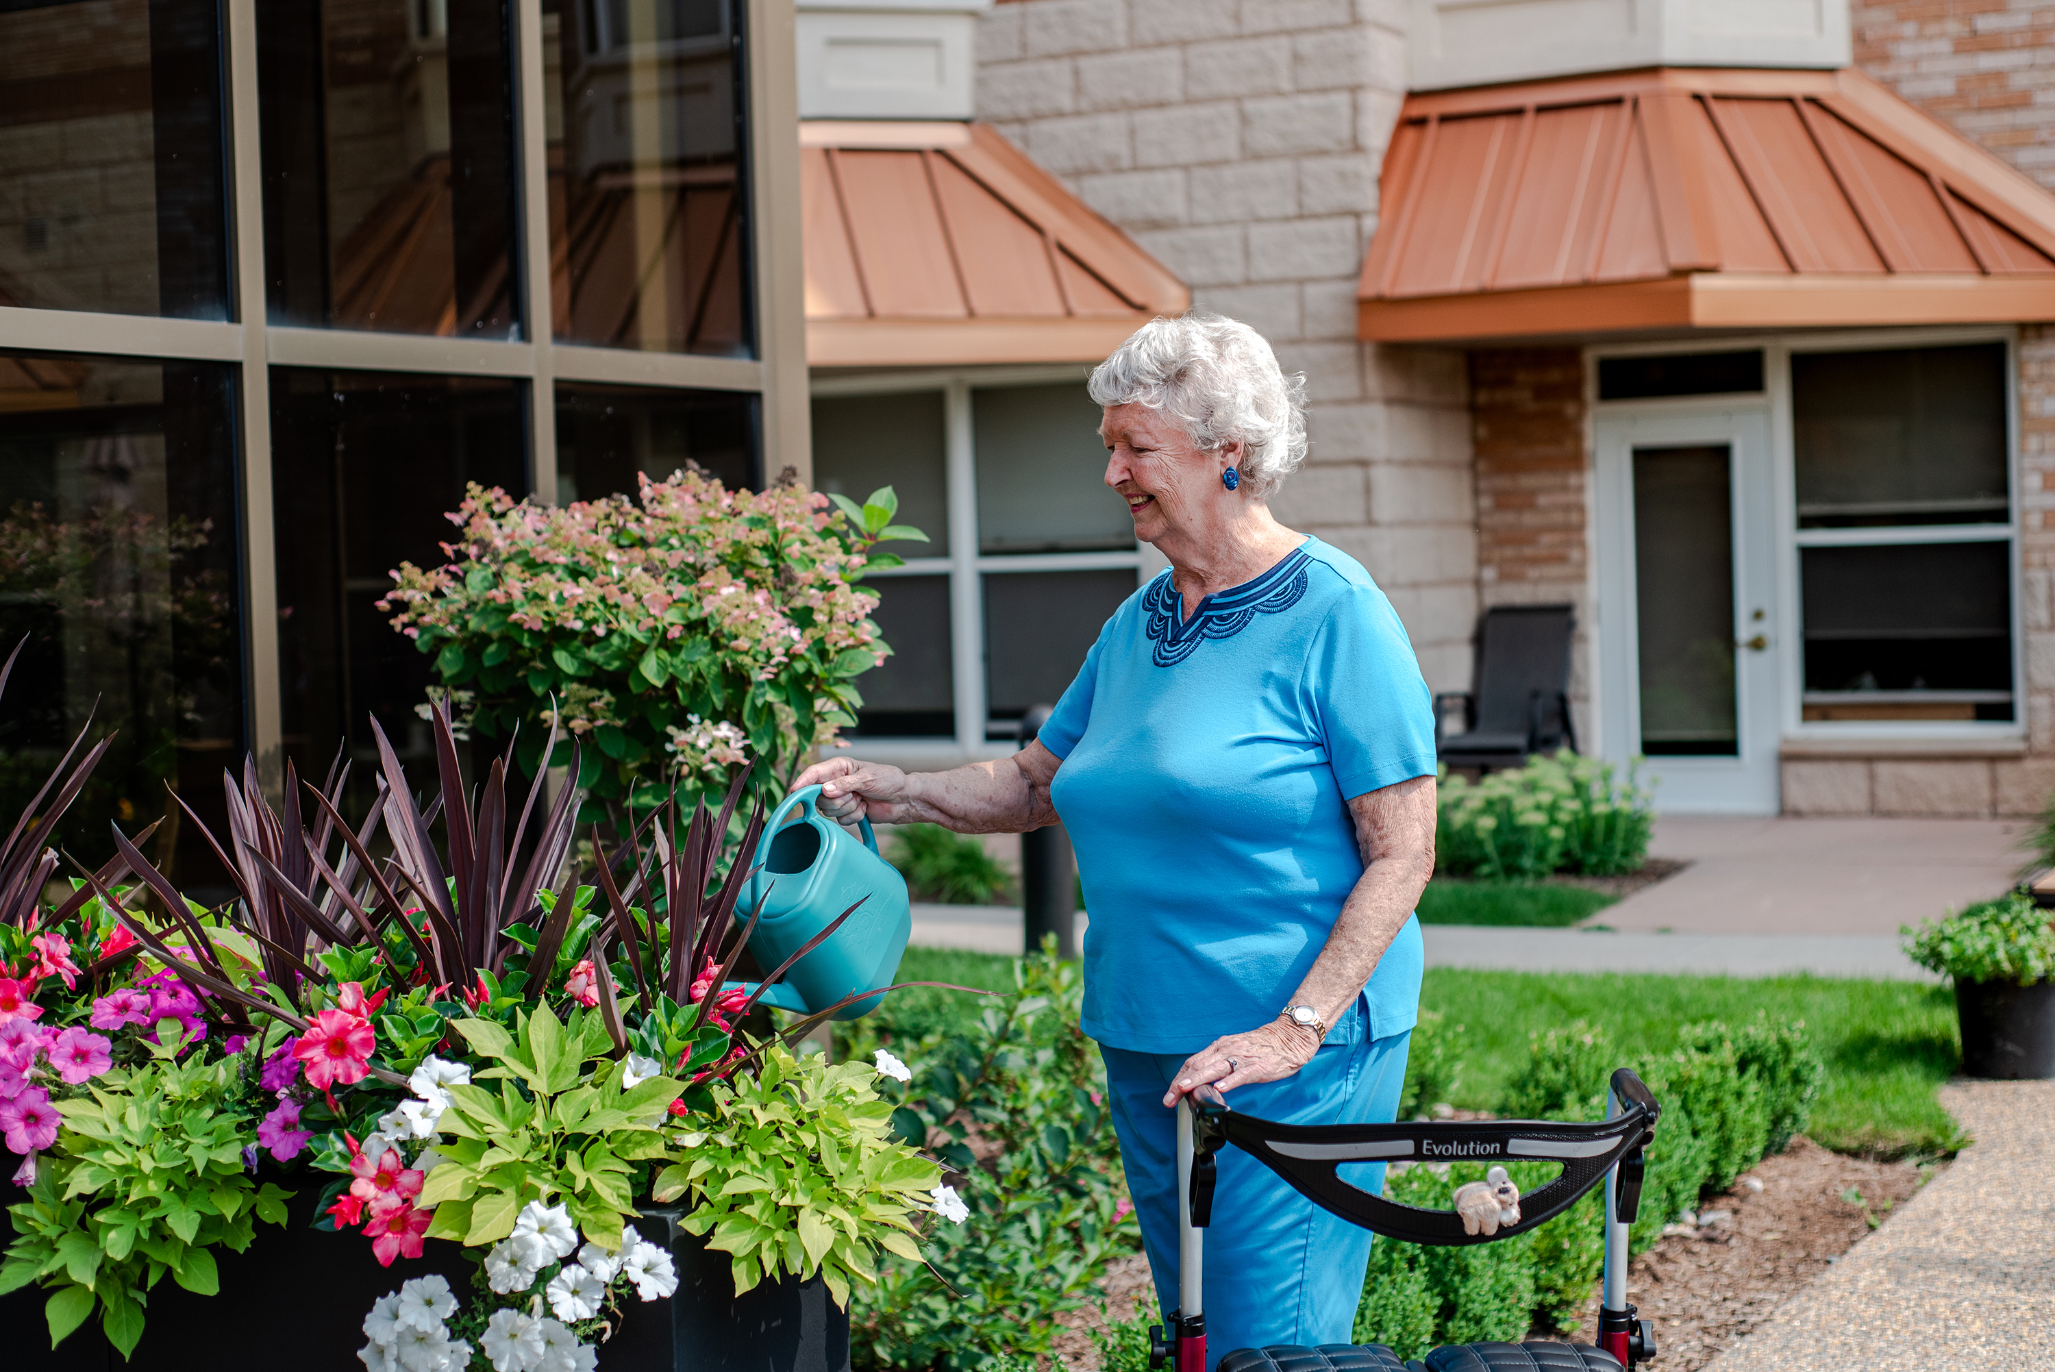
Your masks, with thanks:
M 417 1259 L 380 1267 L 368 1238 L 308 1228 L 316 1175 L 279 1177 L 294 1187 L 292 1218 L 261 1224 L 245 1253 L 214 1249 L 218 1296 L 195 1296 L 171 1278 L 150 1292 L 148 1323 L 129 1362 L 109 1347 L 99 1317 L 80 1325 L 55 1349 L 43 1302 L 29 1286 L 0 1296 L 0 1331 L 8 1335 L 6 1372 L 150 1372 L 203 1366 L 208 1372 L 364 1372 L 364 1314 L 407 1278 L 440 1271 L 458 1300 L 475 1298 L 475 1263 L 454 1243 L 429 1241 Z M 25 1199 L 21 1187 L 0 1187 L 0 1206 Z M 674 1210 L 649 1210 L 637 1228 L 670 1241 L 678 1294 L 641 1302 L 633 1290 L 627 1317 L 600 1345 L 600 1372 L 849 1372 L 849 1312 L 814 1282 L 762 1284 L 740 1300 L 727 1255 L 676 1230 Z M 12 1230 L 4 1234 L 12 1236 Z

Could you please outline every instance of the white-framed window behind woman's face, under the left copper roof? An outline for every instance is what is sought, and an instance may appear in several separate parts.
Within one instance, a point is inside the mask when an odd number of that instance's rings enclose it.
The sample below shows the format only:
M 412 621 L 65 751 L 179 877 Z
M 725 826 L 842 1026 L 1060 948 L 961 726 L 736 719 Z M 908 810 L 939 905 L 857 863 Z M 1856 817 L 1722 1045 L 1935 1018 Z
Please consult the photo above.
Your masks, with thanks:
M 1104 481 L 1099 407 L 1081 380 L 857 386 L 814 398 L 814 483 L 851 499 L 890 485 L 898 522 L 933 542 L 892 544 L 906 567 L 867 581 L 896 655 L 857 680 L 855 733 L 1011 739 L 1021 715 L 1056 702 L 1134 594 L 1141 555 Z M 960 643 L 980 651 L 964 657 Z M 976 717 L 958 717 L 962 696 Z

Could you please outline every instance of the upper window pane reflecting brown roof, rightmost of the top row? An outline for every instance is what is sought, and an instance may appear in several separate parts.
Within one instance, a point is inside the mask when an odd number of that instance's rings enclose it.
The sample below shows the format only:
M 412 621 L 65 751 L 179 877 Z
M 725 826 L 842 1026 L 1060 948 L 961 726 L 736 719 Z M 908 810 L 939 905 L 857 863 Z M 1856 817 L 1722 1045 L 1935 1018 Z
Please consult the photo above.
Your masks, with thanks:
M 732 0 L 543 0 L 559 339 L 746 357 Z

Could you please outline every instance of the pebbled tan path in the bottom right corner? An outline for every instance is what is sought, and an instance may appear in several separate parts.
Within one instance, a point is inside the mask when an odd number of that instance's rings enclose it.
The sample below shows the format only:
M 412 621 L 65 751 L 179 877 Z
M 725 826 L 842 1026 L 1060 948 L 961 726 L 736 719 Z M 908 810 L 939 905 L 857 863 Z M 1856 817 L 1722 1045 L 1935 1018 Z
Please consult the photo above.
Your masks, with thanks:
M 1706 1372 L 2055 1368 L 2055 1082 L 1940 1099 L 1977 1144 Z

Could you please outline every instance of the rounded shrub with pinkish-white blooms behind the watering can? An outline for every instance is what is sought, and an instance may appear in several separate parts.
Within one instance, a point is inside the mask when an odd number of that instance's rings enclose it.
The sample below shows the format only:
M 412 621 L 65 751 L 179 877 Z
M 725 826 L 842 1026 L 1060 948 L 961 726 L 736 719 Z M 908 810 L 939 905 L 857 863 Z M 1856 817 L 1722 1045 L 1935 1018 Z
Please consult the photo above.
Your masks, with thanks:
M 606 805 L 690 801 L 764 762 L 775 789 L 855 723 L 855 678 L 892 651 L 865 571 L 900 559 L 890 487 L 857 505 L 793 481 L 727 491 L 699 472 L 565 507 L 473 485 L 450 516 L 448 565 L 401 563 L 380 608 L 434 657 L 466 727 L 540 760 L 553 723 L 590 746 L 580 787 Z M 569 758 L 559 746 L 553 766 Z

